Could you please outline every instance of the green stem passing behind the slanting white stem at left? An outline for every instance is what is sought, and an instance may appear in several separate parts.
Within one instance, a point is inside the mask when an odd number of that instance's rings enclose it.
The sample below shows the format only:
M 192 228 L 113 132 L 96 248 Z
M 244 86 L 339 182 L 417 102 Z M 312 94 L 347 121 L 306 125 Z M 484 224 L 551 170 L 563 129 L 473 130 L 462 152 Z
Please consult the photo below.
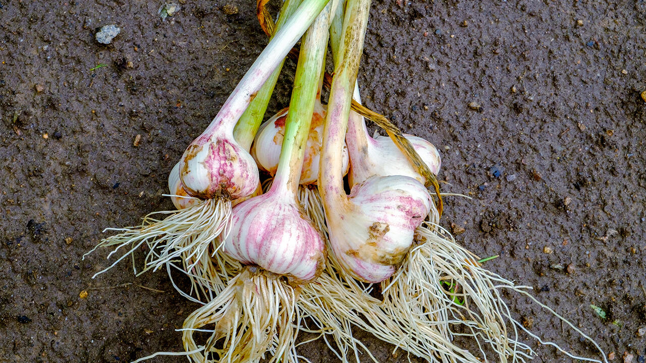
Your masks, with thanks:
M 283 3 L 282 8 L 280 8 L 280 14 L 278 15 L 278 21 L 276 21 L 276 30 L 282 28 L 287 19 L 294 14 L 299 4 L 300 0 L 286 0 Z M 269 40 L 273 39 L 273 37 L 272 35 Z M 278 76 L 280 76 L 280 70 L 282 70 L 284 63 L 285 60 L 283 59 L 271 76 L 269 76 L 265 84 L 262 85 L 256 98 L 251 101 L 249 107 L 247 107 L 247 110 L 242 114 L 238 123 L 236 123 L 236 127 L 233 129 L 234 139 L 247 151 L 251 148 L 253 138 L 256 136 L 258 127 L 260 127 L 260 123 L 262 123 L 262 119 L 265 116 L 269 99 L 274 92 L 276 81 L 278 81 Z

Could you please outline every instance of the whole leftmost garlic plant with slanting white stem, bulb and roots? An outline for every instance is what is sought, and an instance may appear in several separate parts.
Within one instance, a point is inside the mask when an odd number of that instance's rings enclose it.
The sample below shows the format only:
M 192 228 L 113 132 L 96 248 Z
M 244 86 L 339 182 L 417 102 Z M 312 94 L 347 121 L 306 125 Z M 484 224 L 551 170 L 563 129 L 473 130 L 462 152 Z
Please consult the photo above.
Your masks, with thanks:
M 251 65 L 209 127 L 184 152 L 179 167 L 182 186 L 189 196 L 203 202 L 178 212 L 161 212 L 169 214 L 163 220 L 147 216 L 140 227 L 116 229 L 121 233 L 106 238 L 97 247 L 116 246 L 108 257 L 123 247 L 129 246 L 130 249 L 96 275 L 107 271 L 144 243 L 151 249 L 143 271 L 159 269 L 181 256 L 194 261 L 188 266 L 187 272 L 190 272 L 202 260 L 209 245 L 220 234 L 228 233 L 231 227 L 231 200 L 248 196 L 259 185 L 255 161 L 234 140 L 234 125 L 271 72 L 328 1 L 304 0 L 298 6 Z

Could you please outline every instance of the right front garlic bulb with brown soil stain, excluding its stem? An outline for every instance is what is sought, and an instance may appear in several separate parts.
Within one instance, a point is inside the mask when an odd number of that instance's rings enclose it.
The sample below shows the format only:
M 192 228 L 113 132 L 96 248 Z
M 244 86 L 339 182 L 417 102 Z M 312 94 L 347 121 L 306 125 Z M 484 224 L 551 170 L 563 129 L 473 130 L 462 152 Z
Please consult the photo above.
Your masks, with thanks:
M 357 280 L 381 282 L 408 253 L 431 207 L 428 190 L 408 176 L 373 176 L 326 213 L 329 244 Z

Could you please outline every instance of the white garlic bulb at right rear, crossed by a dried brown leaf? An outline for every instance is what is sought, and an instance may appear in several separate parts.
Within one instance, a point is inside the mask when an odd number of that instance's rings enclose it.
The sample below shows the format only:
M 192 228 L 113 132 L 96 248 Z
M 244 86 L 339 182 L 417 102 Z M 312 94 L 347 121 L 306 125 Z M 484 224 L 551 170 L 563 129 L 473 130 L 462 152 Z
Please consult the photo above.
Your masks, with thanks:
M 404 137 L 410 141 L 428 169 L 437 175 L 442 161 L 435 145 L 410 134 L 404 134 Z M 351 160 L 357 160 L 351 162 L 348 172 L 351 187 L 370 176 L 403 175 L 415 178 L 422 184 L 426 182 L 390 137 L 377 136 L 373 139 L 366 135 L 366 138 L 368 145 L 365 149 L 353 149 L 351 142 L 346 140 L 351 149 Z

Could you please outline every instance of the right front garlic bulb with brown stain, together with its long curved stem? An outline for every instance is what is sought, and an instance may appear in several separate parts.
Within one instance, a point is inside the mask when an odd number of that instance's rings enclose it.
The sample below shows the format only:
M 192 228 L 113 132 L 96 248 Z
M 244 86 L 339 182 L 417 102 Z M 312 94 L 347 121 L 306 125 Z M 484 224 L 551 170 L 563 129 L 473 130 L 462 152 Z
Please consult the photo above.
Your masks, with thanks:
M 330 90 L 318 189 L 324 201 L 329 244 L 355 278 L 380 282 L 395 272 L 413 242 L 413 231 L 430 208 L 430 194 L 413 178 L 372 177 L 346 196 L 341 174 L 342 145 L 357 79 L 370 0 L 349 0 L 343 43 Z

